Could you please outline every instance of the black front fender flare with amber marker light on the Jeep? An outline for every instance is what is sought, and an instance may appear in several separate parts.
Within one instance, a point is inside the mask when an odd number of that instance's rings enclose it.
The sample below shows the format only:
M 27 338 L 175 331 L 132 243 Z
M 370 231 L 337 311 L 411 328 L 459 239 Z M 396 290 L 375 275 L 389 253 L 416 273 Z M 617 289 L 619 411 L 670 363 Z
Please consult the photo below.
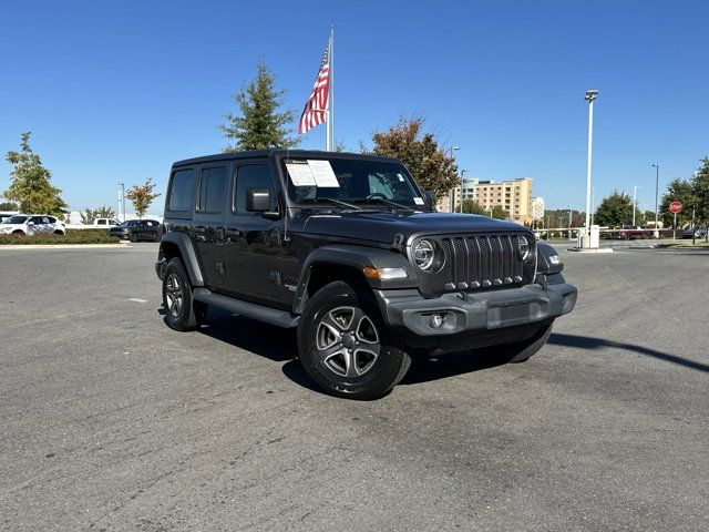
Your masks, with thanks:
M 419 286 L 419 277 L 414 267 L 404 255 L 397 250 L 348 244 L 327 245 L 314 249 L 302 265 L 292 303 L 294 314 L 302 313 L 305 303 L 308 299 L 308 284 L 310 283 L 312 269 L 322 264 L 347 266 L 358 270 L 372 289 L 415 288 Z M 407 277 L 401 279 L 374 279 L 364 275 L 364 268 L 403 268 L 407 272 Z

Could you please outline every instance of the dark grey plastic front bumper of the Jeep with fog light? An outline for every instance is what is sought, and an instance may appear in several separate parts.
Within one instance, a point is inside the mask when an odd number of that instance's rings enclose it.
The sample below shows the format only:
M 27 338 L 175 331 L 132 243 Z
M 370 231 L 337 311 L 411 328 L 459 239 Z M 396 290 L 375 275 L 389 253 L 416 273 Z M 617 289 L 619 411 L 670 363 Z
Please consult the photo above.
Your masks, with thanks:
M 382 316 L 405 336 L 441 337 L 485 334 L 551 323 L 576 304 L 566 283 L 522 288 L 445 294 L 425 299 L 418 290 L 374 290 Z

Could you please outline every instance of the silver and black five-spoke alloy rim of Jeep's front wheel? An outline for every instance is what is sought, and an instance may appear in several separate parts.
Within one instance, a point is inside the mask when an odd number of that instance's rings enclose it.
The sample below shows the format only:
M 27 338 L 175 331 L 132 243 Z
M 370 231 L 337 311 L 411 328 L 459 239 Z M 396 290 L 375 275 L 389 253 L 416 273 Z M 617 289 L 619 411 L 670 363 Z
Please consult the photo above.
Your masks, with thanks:
M 316 351 L 340 377 L 367 374 L 379 358 L 381 342 L 374 323 L 357 307 L 337 307 L 326 313 L 316 328 Z

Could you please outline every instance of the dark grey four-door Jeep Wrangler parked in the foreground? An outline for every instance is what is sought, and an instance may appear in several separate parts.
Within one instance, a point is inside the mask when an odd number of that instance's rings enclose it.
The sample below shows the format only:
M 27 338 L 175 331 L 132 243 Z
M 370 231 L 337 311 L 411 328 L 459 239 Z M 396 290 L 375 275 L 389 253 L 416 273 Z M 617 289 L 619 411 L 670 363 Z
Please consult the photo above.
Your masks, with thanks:
M 433 212 L 395 158 L 181 161 L 164 227 L 156 270 L 169 327 L 194 329 L 208 305 L 297 327 L 305 369 L 339 396 L 387 393 L 417 355 L 499 346 L 526 360 L 576 303 L 551 246 L 511 222 Z

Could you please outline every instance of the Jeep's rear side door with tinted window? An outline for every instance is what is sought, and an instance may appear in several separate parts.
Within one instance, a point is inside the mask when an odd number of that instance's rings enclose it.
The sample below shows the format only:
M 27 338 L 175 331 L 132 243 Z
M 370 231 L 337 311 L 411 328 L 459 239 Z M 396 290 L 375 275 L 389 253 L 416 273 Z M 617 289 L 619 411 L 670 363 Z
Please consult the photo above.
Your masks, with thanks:
M 228 162 L 204 165 L 199 168 L 192 239 L 202 259 L 208 287 L 224 285 L 224 219 L 228 206 Z

